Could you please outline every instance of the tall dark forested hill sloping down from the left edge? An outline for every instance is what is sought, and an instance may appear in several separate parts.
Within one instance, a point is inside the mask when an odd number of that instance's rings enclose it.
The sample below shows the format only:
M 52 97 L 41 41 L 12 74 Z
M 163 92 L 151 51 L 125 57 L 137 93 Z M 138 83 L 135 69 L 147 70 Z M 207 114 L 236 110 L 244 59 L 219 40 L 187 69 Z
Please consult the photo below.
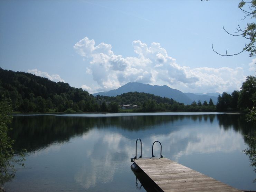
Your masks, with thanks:
M 21 112 L 46 112 L 67 108 L 93 111 L 95 98 L 82 88 L 55 83 L 44 77 L 0 68 L 0 96 L 11 98 L 13 109 Z M 77 104 L 77 105 L 75 105 Z M 86 108 L 87 107 L 87 108 Z

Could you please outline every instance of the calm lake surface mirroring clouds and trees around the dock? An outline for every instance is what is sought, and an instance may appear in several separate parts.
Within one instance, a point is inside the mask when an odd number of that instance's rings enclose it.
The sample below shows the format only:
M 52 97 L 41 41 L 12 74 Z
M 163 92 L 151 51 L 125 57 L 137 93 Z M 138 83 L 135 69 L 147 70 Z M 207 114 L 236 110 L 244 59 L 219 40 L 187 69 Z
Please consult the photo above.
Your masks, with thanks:
M 142 156 L 152 143 L 162 155 L 241 190 L 256 190 L 244 115 L 218 113 L 122 113 L 15 116 L 15 150 L 26 148 L 25 168 L 7 191 L 146 191 L 150 184 L 130 169 L 135 141 Z M 160 155 L 158 144 L 154 155 Z M 137 178 L 138 177 L 138 178 Z M 145 190 L 146 189 L 146 190 Z

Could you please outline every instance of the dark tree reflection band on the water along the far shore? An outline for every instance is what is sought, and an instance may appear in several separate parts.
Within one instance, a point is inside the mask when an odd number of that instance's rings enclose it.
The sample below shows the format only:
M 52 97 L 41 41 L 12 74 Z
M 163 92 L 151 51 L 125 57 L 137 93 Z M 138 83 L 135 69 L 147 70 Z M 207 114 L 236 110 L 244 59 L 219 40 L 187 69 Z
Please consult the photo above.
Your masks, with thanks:
M 51 143 L 68 142 L 70 137 L 82 136 L 91 129 L 105 129 L 117 127 L 130 132 L 155 129 L 165 124 L 181 122 L 184 119 L 196 121 L 217 118 L 219 126 L 227 131 L 233 128 L 244 135 L 252 135 L 255 125 L 245 120 L 241 114 L 210 114 L 210 115 L 156 115 L 156 116 L 119 116 L 119 117 L 62 117 L 53 115 L 44 116 L 15 116 L 10 133 L 14 139 L 14 149 L 18 152 L 26 148 L 28 152 L 45 148 Z M 178 127 L 177 127 L 178 128 Z M 166 133 L 172 130 L 166 130 Z M 155 132 L 155 131 L 154 131 Z M 131 138 L 132 140 L 135 138 Z

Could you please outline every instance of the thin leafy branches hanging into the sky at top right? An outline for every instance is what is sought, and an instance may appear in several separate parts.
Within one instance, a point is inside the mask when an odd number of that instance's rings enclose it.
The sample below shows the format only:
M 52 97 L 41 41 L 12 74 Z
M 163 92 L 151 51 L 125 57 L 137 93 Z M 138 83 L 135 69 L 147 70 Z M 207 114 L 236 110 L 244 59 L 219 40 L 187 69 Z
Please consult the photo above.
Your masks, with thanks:
M 208 0 L 206 0 L 206 1 L 208 1 Z M 238 4 L 238 8 L 241 11 L 243 11 L 243 13 L 245 14 L 244 18 L 241 20 L 244 20 L 247 17 L 250 17 L 250 19 L 256 18 L 256 0 L 252 0 L 250 2 L 245 2 L 242 0 Z M 238 21 L 237 21 L 237 26 L 238 27 L 236 28 L 236 31 L 234 32 L 234 34 L 229 33 L 224 27 L 223 27 L 223 29 L 226 33 L 228 33 L 231 36 L 241 36 L 245 39 L 248 39 L 248 41 L 246 40 L 247 42 L 245 43 L 244 48 L 240 52 L 237 52 L 235 54 L 228 54 L 228 49 L 226 49 L 226 54 L 220 54 L 219 52 L 217 52 L 214 49 L 213 44 L 212 44 L 212 50 L 214 50 L 214 52 L 216 52 L 218 55 L 221 55 L 221 56 L 238 55 L 244 51 L 249 52 L 249 57 L 256 56 L 256 47 L 255 47 L 256 24 L 255 24 L 255 22 L 247 23 L 244 30 L 241 29 Z

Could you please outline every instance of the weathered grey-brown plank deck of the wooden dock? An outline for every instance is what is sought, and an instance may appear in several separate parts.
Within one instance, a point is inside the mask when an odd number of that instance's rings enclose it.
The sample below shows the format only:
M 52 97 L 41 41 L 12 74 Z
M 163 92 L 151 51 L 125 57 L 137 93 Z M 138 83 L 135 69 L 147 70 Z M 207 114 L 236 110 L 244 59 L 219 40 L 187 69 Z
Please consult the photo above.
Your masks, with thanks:
M 133 161 L 165 192 L 240 191 L 166 158 L 139 158 Z

